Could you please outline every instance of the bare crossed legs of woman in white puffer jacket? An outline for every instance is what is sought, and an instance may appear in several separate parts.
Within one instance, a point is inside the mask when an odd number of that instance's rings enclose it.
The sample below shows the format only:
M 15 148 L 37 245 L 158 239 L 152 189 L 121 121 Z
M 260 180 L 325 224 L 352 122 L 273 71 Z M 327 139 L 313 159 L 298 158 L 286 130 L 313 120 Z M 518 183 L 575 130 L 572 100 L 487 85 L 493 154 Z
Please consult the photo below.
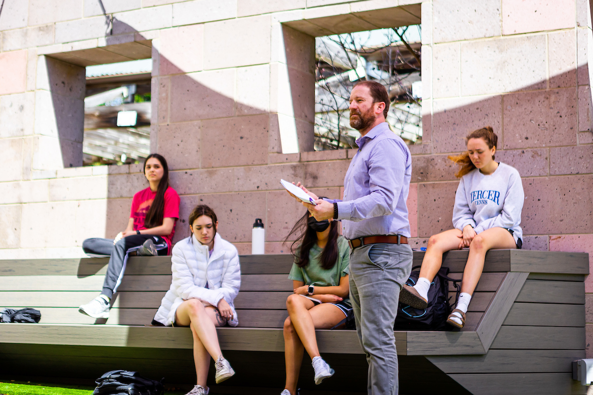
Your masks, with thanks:
M 193 359 L 196 364 L 197 384 L 206 387 L 206 378 L 210 368 L 210 357 L 215 361 L 222 355 L 218 345 L 216 326 L 224 325 L 219 322 L 214 307 L 204 307 L 197 299 L 186 300 L 177 307 L 175 322 L 180 326 L 190 326 L 193 334 Z M 223 319 L 224 320 L 224 319 Z

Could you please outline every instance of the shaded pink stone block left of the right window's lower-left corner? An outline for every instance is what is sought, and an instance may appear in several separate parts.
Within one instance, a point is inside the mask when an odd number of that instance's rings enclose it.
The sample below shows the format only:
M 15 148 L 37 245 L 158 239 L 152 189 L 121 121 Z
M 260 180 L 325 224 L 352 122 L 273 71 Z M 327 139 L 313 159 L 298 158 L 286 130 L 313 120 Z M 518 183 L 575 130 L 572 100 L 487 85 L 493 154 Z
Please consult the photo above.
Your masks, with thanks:
M 202 167 L 267 163 L 269 116 L 221 118 L 202 122 Z

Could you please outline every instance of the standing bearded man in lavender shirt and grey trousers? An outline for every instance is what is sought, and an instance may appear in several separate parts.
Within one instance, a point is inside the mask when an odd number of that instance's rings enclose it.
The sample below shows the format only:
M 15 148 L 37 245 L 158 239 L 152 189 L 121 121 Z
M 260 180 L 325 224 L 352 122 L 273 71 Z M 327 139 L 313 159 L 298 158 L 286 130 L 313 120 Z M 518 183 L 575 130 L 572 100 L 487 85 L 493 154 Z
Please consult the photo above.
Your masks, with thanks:
M 389 97 L 378 82 L 356 84 L 350 126 L 361 132 L 344 179 L 344 200 L 303 203 L 316 220 L 342 220 L 350 248 L 350 301 L 369 364 L 368 394 L 397 395 L 396 320 L 400 290 L 412 269 L 406 200 L 412 156 L 385 122 Z

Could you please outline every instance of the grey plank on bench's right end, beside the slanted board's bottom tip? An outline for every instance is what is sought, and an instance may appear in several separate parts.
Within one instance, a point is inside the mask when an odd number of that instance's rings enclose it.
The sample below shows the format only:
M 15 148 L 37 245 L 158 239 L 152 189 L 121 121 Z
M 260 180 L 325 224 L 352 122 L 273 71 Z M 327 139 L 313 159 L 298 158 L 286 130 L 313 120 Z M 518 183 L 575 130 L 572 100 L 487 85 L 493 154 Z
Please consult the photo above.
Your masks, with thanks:
M 490 348 L 584 350 L 585 328 L 503 325 Z

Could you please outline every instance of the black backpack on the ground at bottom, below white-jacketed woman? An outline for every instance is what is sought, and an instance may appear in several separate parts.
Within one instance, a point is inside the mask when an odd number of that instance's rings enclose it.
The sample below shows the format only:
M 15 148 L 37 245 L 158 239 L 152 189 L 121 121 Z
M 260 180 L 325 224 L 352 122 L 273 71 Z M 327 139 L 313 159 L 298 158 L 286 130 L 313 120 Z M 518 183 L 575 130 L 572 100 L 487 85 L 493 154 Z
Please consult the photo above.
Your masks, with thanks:
M 93 395 L 162 395 L 161 381 L 150 380 L 127 370 L 112 370 L 95 380 Z

